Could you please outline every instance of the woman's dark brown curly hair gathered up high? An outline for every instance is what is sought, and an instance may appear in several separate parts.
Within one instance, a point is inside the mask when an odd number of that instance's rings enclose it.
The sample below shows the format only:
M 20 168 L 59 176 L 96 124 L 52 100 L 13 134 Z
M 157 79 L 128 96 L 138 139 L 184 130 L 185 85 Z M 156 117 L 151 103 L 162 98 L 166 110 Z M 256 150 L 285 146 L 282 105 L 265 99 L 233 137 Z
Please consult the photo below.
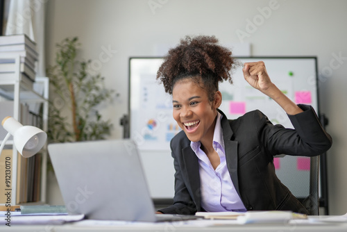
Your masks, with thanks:
M 234 64 L 231 51 L 218 44 L 214 36 L 186 36 L 177 47 L 170 49 L 158 69 L 157 79 L 163 83 L 165 92 L 172 94 L 177 81 L 192 78 L 203 82 L 210 101 L 218 90 L 218 83 L 232 83 L 230 69 Z

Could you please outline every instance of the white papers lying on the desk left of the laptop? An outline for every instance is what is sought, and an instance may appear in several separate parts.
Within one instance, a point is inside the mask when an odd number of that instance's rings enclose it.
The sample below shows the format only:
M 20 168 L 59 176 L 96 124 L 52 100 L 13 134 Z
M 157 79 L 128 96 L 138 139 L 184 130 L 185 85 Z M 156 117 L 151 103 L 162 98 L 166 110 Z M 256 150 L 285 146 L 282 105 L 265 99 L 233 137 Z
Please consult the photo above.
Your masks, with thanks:
M 64 224 L 65 222 L 77 222 L 85 218 L 85 215 L 20 215 L 12 212 L 6 215 L 6 211 L 0 212 L 1 222 L 10 222 L 10 224 Z

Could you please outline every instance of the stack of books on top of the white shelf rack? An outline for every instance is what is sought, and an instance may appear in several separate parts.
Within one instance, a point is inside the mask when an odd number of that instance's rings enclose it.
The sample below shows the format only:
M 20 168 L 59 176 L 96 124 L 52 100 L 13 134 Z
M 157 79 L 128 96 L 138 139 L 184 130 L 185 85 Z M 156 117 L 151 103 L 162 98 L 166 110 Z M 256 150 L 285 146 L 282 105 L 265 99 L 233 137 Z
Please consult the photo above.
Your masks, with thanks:
M 13 56 L 20 56 L 20 80 L 33 88 L 35 81 L 35 63 L 38 58 L 36 44 L 27 35 L 4 35 L 0 36 L 0 83 L 2 81 L 14 80 L 15 60 Z M 8 55 L 9 58 L 6 58 Z

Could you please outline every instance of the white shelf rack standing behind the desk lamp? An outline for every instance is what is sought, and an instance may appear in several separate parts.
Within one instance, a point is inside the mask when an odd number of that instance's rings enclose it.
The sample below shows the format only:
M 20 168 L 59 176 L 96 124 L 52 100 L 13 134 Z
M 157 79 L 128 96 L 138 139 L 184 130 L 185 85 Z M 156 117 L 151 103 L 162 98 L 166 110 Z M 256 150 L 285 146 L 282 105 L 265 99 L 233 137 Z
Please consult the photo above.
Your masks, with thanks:
M 10 73 L 10 75 L 0 78 L 0 101 L 9 100 L 13 101 L 13 115 L 15 119 L 19 122 L 20 120 L 20 108 L 21 103 L 43 103 L 43 113 L 42 113 L 42 124 L 43 131 L 47 131 L 48 127 L 48 107 L 49 107 L 49 78 L 47 77 L 36 77 L 35 82 L 31 81 L 30 78 L 25 76 L 20 72 L 19 56 L 4 56 L 0 54 L 0 59 L 13 59 L 15 60 L 15 72 Z M 1 138 L 3 139 L 3 138 Z M 0 140 L 0 143 L 3 141 Z M 17 192 L 17 181 L 19 181 L 19 176 L 17 178 L 17 150 L 13 146 L 13 141 L 8 140 L 6 146 L 12 146 L 12 170 L 11 170 L 11 205 L 22 204 L 22 202 L 17 202 L 17 195 L 20 194 Z M 46 148 L 42 150 L 41 156 L 41 167 L 40 167 L 40 197 L 36 202 L 24 203 L 24 204 L 44 204 L 46 201 L 46 163 L 47 163 L 47 152 Z M 38 183 L 38 182 L 35 182 Z M 25 188 L 25 187 L 24 187 Z M 26 196 L 26 194 L 24 194 Z M 28 194 L 30 197 L 30 195 Z M 31 198 L 32 200 L 35 198 Z M 20 200 L 19 200 L 20 201 Z

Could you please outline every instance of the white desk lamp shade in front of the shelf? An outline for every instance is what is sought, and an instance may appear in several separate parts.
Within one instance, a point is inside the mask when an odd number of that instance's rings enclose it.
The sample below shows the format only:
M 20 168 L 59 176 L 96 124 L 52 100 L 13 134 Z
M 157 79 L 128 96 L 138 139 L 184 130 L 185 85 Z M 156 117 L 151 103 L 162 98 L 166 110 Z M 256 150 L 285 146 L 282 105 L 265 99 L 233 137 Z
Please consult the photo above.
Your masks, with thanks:
M 44 131 L 35 126 L 23 126 L 13 117 L 5 117 L 1 124 L 13 136 L 15 147 L 25 158 L 35 155 L 46 142 Z

